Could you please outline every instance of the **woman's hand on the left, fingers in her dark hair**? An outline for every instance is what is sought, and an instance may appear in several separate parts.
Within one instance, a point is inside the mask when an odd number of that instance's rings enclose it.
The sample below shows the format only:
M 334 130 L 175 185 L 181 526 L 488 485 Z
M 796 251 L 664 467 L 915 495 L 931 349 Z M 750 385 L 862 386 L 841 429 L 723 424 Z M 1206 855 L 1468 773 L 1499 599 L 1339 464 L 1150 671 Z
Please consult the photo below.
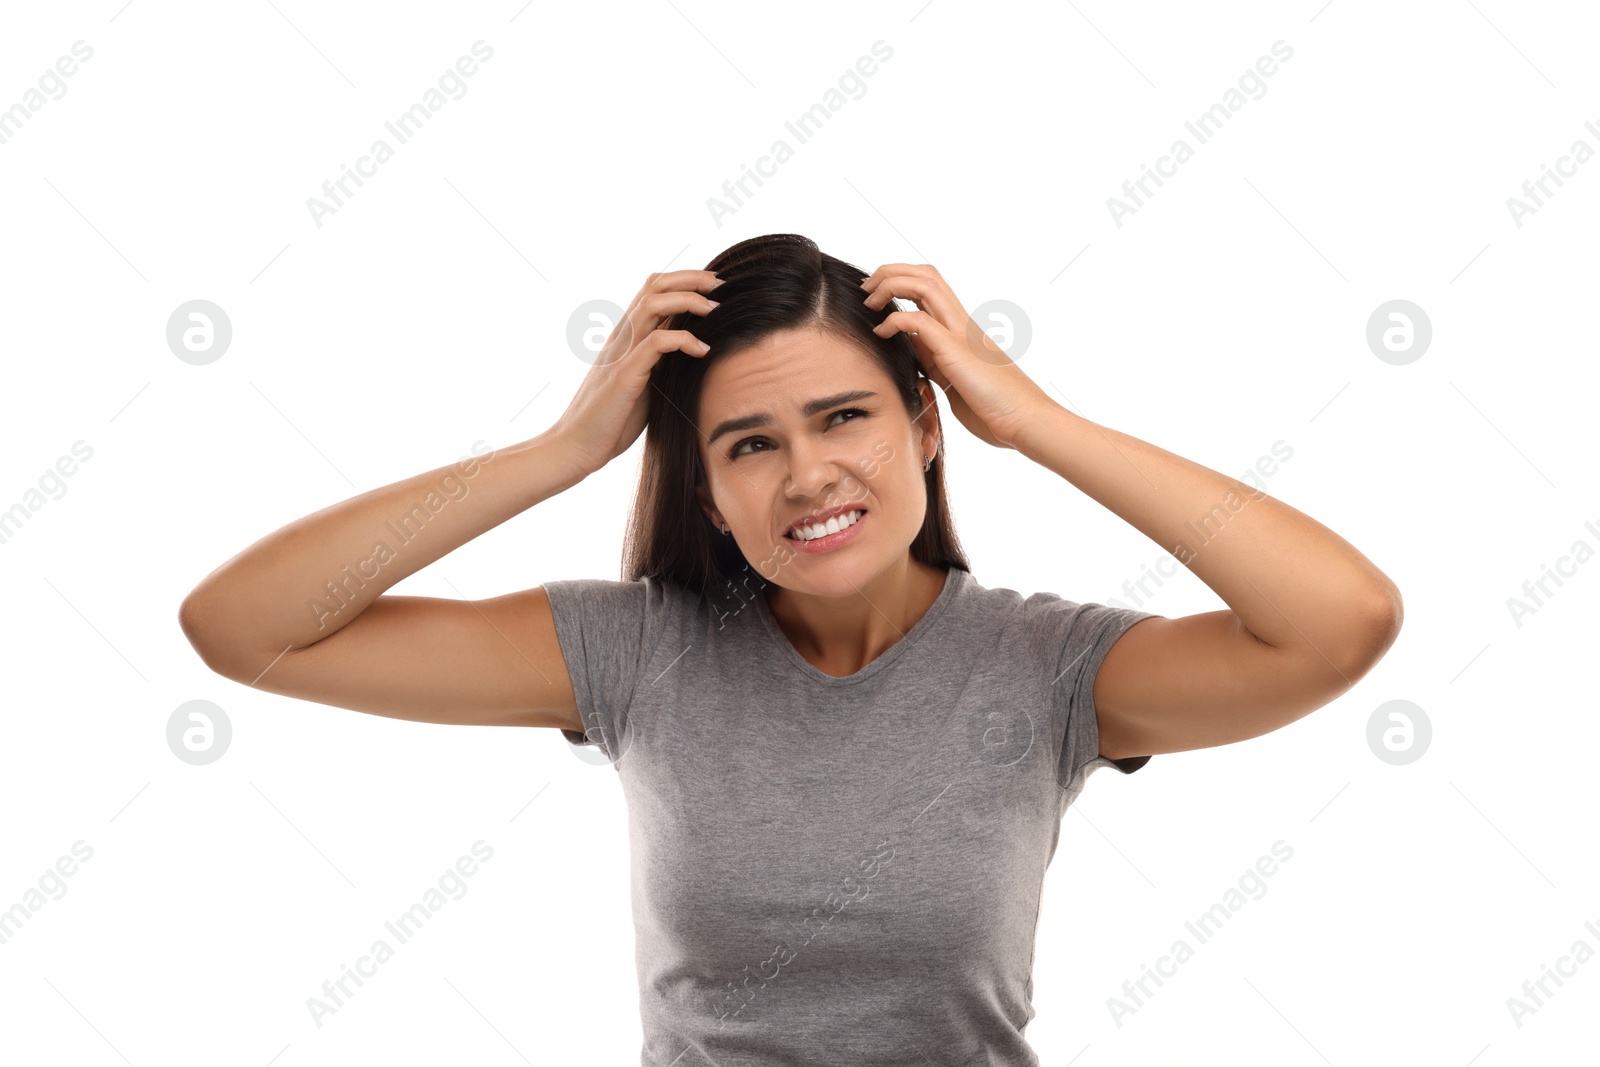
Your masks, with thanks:
M 573 402 L 550 434 L 594 474 L 626 453 L 645 430 L 650 373 L 666 352 L 706 355 L 709 347 L 688 330 L 659 330 L 678 312 L 704 315 L 715 307 L 706 293 L 722 285 L 710 270 L 653 274 L 616 323 Z

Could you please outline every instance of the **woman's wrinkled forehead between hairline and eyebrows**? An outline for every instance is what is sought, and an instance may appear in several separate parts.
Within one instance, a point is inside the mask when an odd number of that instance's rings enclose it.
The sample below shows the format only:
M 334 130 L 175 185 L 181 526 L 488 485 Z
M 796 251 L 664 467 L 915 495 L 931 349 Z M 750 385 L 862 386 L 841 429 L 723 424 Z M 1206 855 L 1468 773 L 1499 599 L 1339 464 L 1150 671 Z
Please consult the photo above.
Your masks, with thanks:
M 800 405 L 846 389 L 893 390 L 890 376 L 870 355 L 835 334 L 814 328 L 786 330 L 739 349 L 706 371 L 699 424 L 770 413 L 798 414 Z

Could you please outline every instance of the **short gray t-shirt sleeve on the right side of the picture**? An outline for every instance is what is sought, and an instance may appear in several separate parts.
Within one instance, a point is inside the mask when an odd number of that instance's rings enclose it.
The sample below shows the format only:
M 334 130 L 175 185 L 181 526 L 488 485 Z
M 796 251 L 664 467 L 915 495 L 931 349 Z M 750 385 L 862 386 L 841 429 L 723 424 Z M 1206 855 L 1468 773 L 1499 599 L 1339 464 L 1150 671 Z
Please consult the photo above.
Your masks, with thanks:
M 1056 784 L 1072 803 L 1088 776 L 1102 766 L 1133 774 L 1150 761 L 1147 755 L 1107 760 L 1099 755 L 1099 718 L 1094 709 L 1094 678 L 1106 653 L 1136 622 L 1157 617 L 1150 611 L 1112 608 L 1101 603 L 1074 603 L 1053 593 L 1027 600 L 1035 640 L 1051 672 L 1051 739 L 1054 741 Z

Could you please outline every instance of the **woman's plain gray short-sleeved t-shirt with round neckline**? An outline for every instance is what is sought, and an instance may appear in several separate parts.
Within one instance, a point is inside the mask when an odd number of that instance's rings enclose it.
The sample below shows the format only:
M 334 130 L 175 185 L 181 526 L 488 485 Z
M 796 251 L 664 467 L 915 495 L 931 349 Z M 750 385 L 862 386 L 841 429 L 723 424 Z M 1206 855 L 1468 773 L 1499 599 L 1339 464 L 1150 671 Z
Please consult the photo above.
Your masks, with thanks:
M 627 803 L 643 1067 L 1037 1067 L 1045 869 L 1090 773 L 1150 760 L 1099 757 L 1093 704 L 1150 613 L 950 568 L 835 678 L 760 592 L 544 590 L 586 728 L 562 734 Z

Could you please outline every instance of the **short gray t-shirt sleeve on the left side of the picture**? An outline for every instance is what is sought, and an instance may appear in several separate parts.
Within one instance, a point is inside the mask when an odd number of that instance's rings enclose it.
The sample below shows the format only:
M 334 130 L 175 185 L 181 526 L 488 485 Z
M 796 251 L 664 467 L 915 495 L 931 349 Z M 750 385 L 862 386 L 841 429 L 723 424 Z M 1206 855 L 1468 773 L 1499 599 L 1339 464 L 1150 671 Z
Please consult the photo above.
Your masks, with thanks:
M 584 723 L 584 733 L 562 729 L 562 736 L 598 747 L 614 765 L 627 752 L 629 705 L 666 629 L 670 589 L 653 577 L 578 577 L 544 582 L 544 593 Z

